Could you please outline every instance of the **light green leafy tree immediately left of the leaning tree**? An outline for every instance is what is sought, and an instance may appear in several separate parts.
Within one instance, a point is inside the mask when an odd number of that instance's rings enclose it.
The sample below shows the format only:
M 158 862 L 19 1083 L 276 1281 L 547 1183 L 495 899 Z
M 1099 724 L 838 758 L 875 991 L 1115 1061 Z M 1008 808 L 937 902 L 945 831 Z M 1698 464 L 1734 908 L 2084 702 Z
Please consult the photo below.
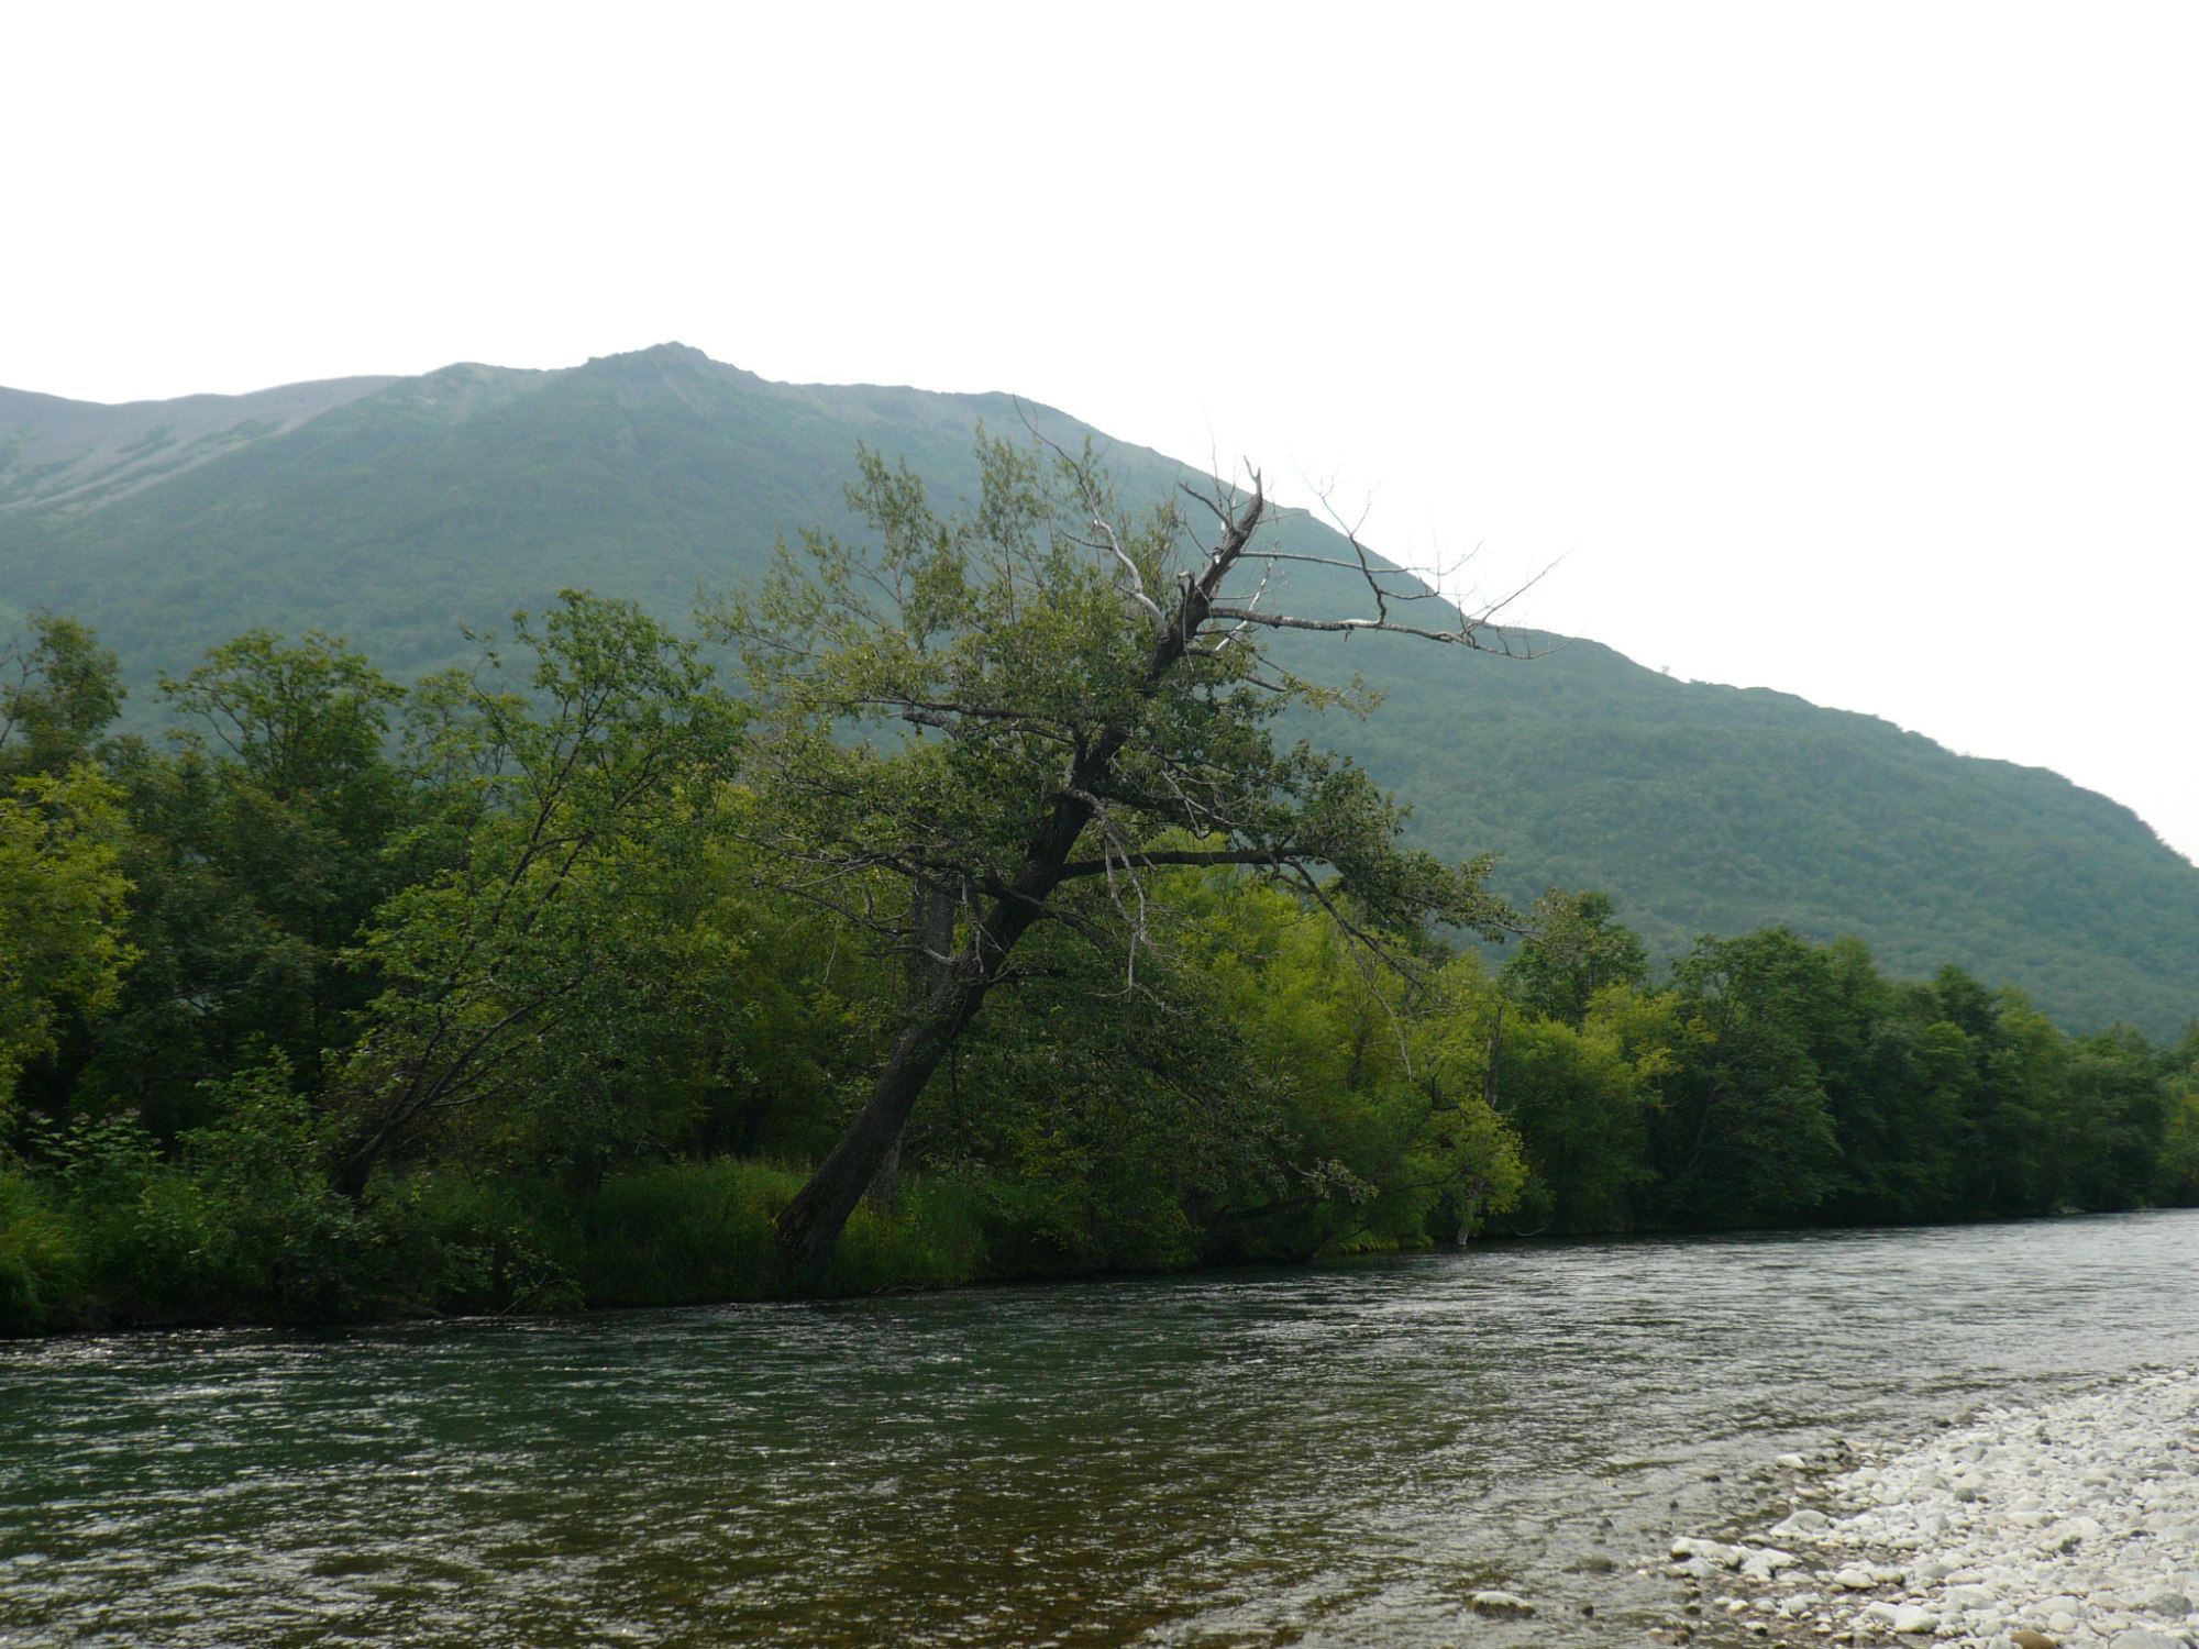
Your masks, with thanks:
M 446 868 L 394 893 L 352 961 L 385 981 L 336 1082 L 341 1178 L 451 1128 L 629 1146 L 644 1097 L 719 1000 L 690 906 L 739 712 L 695 649 L 631 602 L 565 591 L 528 695 L 422 686 L 413 763 L 440 787 L 405 846 Z M 532 1113 L 532 1115 L 521 1115 Z M 556 1135 L 563 1132 L 563 1139 Z

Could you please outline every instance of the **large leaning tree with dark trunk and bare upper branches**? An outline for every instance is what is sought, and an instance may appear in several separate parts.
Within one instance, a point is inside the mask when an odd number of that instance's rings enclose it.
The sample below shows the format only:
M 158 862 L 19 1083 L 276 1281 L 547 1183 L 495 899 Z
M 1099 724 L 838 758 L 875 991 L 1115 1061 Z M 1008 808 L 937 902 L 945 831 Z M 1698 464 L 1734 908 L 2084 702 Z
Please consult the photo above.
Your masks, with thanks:
M 979 460 L 981 497 L 939 514 L 906 464 L 862 453 L 849 503 L 869 532 L 781 543 L 704 613 L 745 666 L 745 829 L 783 888 L 897 948 L 915 983 L 869 1102 L 778 1218 L 794 1266 L 891 1174 L 1038 923 L 1108 948 L 1137 989 L 1150 877 L 1176 866 L 1251 866 L 1357 934 L 1509 921 L 1484 864 L 1403 849 L 1363 772 L 1275 739 L 1291 706 L 1363 701 L 1284 668 L 1280 633 L 1511 651 L 1493 609 L 1456 609 L 1355 532 L 1286 545 L 1258 473 L 1130 512 L 1091 449 L 981 433 Z M 1306 585 L 1328 600 L 1293 611 L 1282 594 Z

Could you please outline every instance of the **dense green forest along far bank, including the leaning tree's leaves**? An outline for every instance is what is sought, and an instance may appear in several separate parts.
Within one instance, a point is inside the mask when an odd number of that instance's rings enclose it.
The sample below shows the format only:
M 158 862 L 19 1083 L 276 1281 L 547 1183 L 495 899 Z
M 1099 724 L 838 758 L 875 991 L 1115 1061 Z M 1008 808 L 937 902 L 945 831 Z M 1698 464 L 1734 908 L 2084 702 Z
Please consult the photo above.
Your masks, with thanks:
M 1231 649 L 1258 598 L 1168 653 L 1146 591 L 1192 600 L 1220 550 L 1091 486 L 996 444 L 941 517 L 866 460 L 869 532 L 706 605 L 708 653 L 583 591 L 411 684 L 253 629 L 136 723 L 99 635 L 33 616 L 0 682 L 0 1326 L 2199 1198 L 2199 1029 L 2067 1036 L 1781 926 L 1660 963 L 1596 890 L 1511 908 L 1289 743 L 1352 693 Z M 1058 886 L 992 875 L 1064 796 Z M 789 1266 L 774 1220 L 959 967 L 985 989 L 921 1104 Z

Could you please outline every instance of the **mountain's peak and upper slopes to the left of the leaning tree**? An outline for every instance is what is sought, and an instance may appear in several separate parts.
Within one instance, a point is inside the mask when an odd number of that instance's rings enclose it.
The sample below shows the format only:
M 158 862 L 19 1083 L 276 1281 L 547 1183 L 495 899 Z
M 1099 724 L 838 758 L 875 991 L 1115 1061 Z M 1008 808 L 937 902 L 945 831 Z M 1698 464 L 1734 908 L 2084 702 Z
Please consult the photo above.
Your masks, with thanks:
M 420 671 L 471 655 L 460 624 L 563 587 L 684 613 L 776 532 L 838 521 L 858 440 L 961 484 L 974 420 L 1016 420 L 1007 396 L 772 385 L 679 345 L 268 396 L 317 411 L 0 391 L 4 600 L 97 622 L 147 679 L 248 624 L 319 624 Z

